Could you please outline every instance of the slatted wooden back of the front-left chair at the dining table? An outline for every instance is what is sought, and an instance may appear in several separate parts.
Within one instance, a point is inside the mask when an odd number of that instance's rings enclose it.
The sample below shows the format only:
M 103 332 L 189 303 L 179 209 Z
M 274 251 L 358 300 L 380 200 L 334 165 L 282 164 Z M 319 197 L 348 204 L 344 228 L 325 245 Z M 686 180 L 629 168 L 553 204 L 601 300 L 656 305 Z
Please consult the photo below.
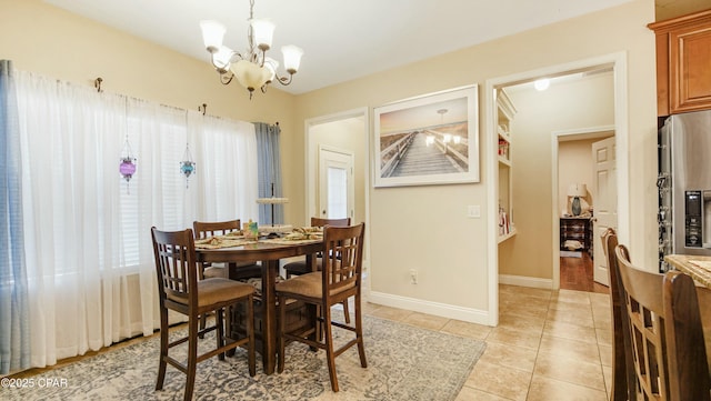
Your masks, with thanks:
M 198 305 L 198 263 L 192 230 L 166 232 L 151 229 L 161 307 L 190 315 Z

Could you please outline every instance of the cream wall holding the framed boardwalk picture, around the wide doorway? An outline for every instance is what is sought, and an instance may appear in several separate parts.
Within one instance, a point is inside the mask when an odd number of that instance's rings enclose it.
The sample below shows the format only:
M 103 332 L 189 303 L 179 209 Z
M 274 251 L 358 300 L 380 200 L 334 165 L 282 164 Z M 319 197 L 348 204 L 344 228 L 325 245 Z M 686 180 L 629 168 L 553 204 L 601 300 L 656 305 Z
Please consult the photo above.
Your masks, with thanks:
M 651 230 L 654 197 L 648 192 L 655 176 L 654 37 L 647 23 L 654 19 L 653 2 L 638 0 L 621 7 L 547 26 L 521 34 L 385 71 L 299 97 L 297 119 L 303 120 L 471 83 L 480 84 L 480 146 L 487 149 L 481 92 L 488 79 L 549 66 L 627 53 L 631 202 L 628 217 L 637 258 L 654 260 L 641 233 Z M 547 154 L 549 152 L 547 151 Z M 482 179 L 488 154 L 481 154 Z M 550 158 L 542 158 L 550 166 Z M 550 167 L 547 171 L 550 171 Z M 550 174 L 544 178 L 549 181 Z M 468 219 L 468 204 L 487 210 L 491 182 L 435 187 L 372 189 L 370 192 L 371 290 L 390 303 L 413 308 L 447 304 L 452 309 L 488 308 L 488 230 L 494 224 L 485 213 Z M 550 191 L 548 203 L 550 204 Z M 518 207 L 520 212 L 521 207 Z M 549 209 L 550 210 L 550 209 Z M 651 220 L 651 221 L 650 221 Z M 550 238 L 550 221 L 541 238 Z M 547 231 L 548 230 L 548 231 Z M 551 248 L 550 241 L 543 243 Z M 529 255 L 530 257 L 530 255 Z M 549 257 L 550 258 L 550 257 Z M 409 282 L 409 269 L 419 270 L 420 283 Z M 550 263 L 528 273 L 550 277 Z

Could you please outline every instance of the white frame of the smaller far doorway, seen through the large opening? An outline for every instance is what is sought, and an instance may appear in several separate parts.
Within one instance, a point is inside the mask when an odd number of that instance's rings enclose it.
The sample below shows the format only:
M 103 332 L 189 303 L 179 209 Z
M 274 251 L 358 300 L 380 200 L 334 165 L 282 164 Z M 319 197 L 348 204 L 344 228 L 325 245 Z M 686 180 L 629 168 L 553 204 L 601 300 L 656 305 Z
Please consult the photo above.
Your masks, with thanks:
M 602 138 L 601 136 L 605 132 L 614 131 L 614 126 L 601 126 L 601 127 L 590 127 L 590 128 L 581 128 L 573 130 L 561 130 L 551 132 L 551 160 L 553 160 L 553 168 L 551 169 L 551 197 L 553 199 L 552 202 L 552 215 L 553 215 L 553 290 L 560 289 L 560 210 L 561 205 L 558 201 L 558 190 L 559 190 L 559 169 L 558 166 L 558 157 L 559 157 L 559 143 L 562 138 L 565 140 L 578 140 L 578 139 L 592 139 L 592 138 Z M 574 138 L 571 138 L 574 137 Z M 617 141 L 617 133 L 614 134 Z M 618 202 L 620 201 L 620 197 L 618 196 Z M 593 232 L 593 235 L 597 233 Z M 594 241 L 594 238 L 591 239 Z M 594 243 L 594 242 L 593 242 Z M 597 250 L 595 250 L 597 251 Z

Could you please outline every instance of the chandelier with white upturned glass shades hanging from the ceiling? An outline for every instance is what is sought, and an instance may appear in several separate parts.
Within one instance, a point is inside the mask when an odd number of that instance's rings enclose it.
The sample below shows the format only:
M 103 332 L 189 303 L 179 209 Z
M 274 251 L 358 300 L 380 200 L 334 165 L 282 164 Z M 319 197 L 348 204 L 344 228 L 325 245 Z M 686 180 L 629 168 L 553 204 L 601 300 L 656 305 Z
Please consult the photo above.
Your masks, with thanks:
M 272 81 L 288 86 L 291 83 L 293 74 L 299 70 L 301 54 L 303 50 L 289 44 L 281 48 L 283 53 L 284 69 L 289 77 L 280 77 L 277 72 L 279 62 L 267 57 L 267 51 L 271 48 L 271 40 L 274 33 L 274 24 L 266 19 L 254 19 L 254 0 L 249 2 L 249 28 L 247 39 L 249 48 L 246 52 L 232 50 L 222 44 L 226 28 L 217 21 L 201 21 L 202 40 L 211 54 L 212 66 L 220 73 L 220 82 L 228 84 L 233 78 L 247 90 L 249 98 L 256 89 L 263 92 Z

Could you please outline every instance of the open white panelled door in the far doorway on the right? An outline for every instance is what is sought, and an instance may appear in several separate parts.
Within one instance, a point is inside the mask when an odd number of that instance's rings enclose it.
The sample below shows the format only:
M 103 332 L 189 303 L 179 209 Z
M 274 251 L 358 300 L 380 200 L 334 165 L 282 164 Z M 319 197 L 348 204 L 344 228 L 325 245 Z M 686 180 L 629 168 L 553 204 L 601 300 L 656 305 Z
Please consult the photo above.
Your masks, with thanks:
M 610 285 L 608 260 L 602 252 L 601 234 L 618 227 L 617 168 L 614 159 L 614 137 L 592 143 L 592 196 L 594 219 L 592 219 L 593 279 Z

